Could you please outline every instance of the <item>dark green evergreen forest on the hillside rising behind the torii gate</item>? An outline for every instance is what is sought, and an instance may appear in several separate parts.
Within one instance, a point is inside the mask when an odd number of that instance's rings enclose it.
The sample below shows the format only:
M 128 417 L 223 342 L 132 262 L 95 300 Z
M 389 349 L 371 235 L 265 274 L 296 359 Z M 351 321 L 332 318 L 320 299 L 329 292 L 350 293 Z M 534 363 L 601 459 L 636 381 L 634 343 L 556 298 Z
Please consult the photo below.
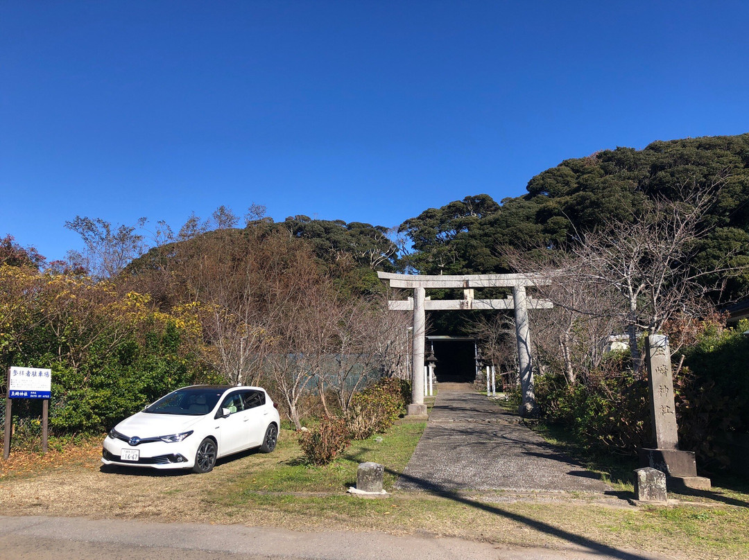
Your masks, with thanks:
M 530 180 L 526 195 L 500 204 L 476 195 L 430 208 L 399 228 L 413 243 L 404 264 L 429 274 L 509 272 L 503 248 L 565 249 L 583 231 L 634 221 L 649 202 L 679 200 L 694 191 L 716 192 L 700 224 L 706 235 L 695 266 L 709 268 L 717 255 L 736 249 L 749 255 L 749 134 L 744 134 L 655 141 L 639 151 L 603 150 L 542 171 Z M 748 286 L 736 282 L 727 295 Z

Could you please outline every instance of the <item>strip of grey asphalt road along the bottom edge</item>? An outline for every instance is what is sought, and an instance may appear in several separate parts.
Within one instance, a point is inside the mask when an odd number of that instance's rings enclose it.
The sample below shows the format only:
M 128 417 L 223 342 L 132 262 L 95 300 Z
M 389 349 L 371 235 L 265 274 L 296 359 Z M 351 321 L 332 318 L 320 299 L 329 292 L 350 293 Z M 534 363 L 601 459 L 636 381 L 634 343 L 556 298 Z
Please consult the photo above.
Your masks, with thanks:
M 663 560 L 587 548 L 497 547 L 381 532 L 294 532 L 238 525 L 79 517 L 0 517 L 1 560 Z

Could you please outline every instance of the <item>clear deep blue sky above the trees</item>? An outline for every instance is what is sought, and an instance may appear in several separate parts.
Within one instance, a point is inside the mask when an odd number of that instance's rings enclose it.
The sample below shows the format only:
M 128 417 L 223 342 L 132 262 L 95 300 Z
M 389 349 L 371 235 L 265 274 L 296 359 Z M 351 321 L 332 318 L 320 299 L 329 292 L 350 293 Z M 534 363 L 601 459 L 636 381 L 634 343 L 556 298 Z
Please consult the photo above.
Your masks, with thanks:
M 749 131 L 744 1 L 0 1 L 0 237 L 76 215 L 394 226 Z

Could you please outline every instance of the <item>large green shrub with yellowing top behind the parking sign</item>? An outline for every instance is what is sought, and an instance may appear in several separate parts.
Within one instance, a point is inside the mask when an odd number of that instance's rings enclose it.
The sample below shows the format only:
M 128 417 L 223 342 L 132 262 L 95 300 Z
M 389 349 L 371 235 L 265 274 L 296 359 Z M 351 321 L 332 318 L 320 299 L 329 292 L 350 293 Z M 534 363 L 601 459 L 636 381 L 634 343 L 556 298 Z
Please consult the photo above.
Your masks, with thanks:
M 109 430 L 167 392 L 207 377 L 194 351 L 199 335 L 183 317 L 159 311 L 147 294 L 121 293 L 113 282 L 88 276 L 0 264 L 0 371 L 12 365 L 52 370 L 55 436 Z M 36 418 L 41 403 L 18 399 L 13 413 Z

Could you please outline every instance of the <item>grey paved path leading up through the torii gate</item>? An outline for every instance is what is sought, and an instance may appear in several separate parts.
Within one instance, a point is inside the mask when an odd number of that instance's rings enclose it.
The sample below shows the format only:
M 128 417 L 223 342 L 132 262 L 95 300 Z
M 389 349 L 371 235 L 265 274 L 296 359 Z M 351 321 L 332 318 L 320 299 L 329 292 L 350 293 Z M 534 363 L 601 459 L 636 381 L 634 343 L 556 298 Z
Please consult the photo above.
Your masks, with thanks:
M 426 430 L 396 487 L 604 492 L 574 463 L 470 384 L 440 383 Z

